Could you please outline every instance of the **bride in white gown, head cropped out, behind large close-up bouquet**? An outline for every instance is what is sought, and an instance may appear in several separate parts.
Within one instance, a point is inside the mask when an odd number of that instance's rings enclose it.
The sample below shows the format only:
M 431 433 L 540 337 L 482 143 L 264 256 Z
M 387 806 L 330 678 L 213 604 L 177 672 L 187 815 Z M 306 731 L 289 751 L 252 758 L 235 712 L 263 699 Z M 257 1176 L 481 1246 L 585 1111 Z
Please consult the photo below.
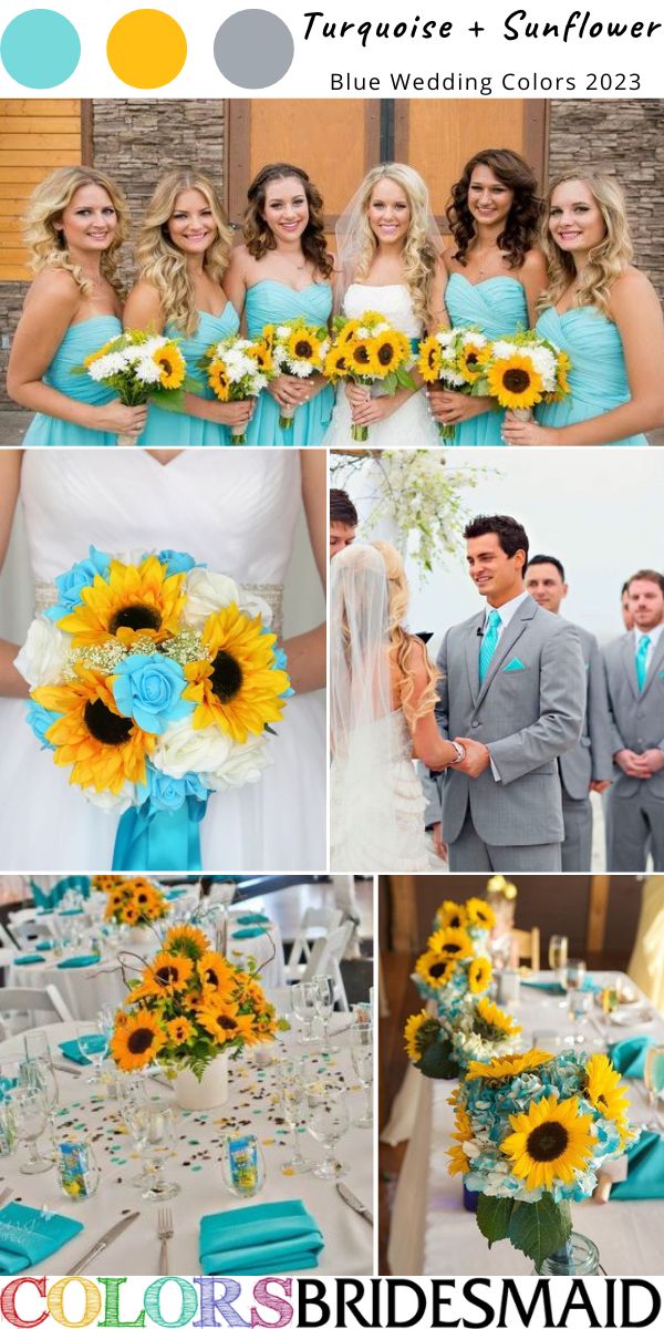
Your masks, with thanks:
M 88 554 L 181 549 L 210 570 L 280 605 L 304 498 L 321 578 L 325 567 L 324 455 L 262 449 L 179 453 L 36 449 L 0 457 L 0 557 L 15 504 L 23 504 L 36 603 L 53 578 Z M 256 784 L 214 793 L 201 823 L 203 869 L 325 868 L 324 625 L 284 642 L 296 695 L 271 740 L 272 766 Z M 17 647 L 0 643 L 0 855 L 4 870 L 108 870 L 117 813 L 68 784 L 25 722 Z M 167 864 L 163 865 L 167 868 Z

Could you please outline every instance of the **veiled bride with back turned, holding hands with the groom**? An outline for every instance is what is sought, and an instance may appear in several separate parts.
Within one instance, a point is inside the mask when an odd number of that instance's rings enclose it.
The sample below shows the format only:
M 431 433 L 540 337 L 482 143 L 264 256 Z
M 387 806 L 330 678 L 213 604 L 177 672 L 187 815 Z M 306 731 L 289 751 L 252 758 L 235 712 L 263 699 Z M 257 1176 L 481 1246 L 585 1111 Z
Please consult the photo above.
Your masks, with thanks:
M 401 556 L 381 541 L 351 545 L 332 560 L 329 594 L 332 868 L 436 870 L 413 758 L 441 771 L 462 750 L 438 732 L 436 671 L 402 626 Z

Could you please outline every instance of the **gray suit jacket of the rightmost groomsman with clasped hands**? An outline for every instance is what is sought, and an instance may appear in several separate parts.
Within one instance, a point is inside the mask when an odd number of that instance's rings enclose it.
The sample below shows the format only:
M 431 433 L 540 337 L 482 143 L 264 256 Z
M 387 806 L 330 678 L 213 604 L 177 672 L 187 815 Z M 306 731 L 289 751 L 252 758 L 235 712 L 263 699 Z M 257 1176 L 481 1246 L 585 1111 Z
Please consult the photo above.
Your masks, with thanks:
M 612 752 L 631 748 L 632 752 L 645 752 L 649 747 L 664 751 L 664 633 L 651 655 L 645 686 L 639 692 L 636 683 L 633 633 L 625 633 L 604 650 L 604 670 L 611 712 Z M 636 780 L 614 766 L 615 792 L 623 799 L 631 799 L 643 787 L 656 799 L 664 799 L 664 771 L 657 771 L 649 780 Z

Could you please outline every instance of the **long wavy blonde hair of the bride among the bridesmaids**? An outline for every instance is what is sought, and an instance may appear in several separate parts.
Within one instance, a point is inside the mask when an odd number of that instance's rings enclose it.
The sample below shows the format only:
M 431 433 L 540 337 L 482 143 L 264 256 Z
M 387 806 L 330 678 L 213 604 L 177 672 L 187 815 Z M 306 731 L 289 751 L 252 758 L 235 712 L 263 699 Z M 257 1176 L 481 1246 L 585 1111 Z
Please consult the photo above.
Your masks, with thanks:
M 410 205 L 410 223 L 404 242 L 402 263 L 404 283 L 410 292 L 413 310 L 422 319 L 429 322 L 429 295 L 433 275 L 438 262 L 438 250 L 430 234 L 429 226 L 429 190 L 421 175 L 412 166 L 402 162 L 385 162 L 374 166 L 360 186 L 361 221 L 359 234 L 359 255 L 355 268 L 355 279 L 363 280 L 369 272 L 373 256 L 377 250 L 376 237 L 369 226 L 369 202 L 381 179 L 390 179 L 404 190 Z

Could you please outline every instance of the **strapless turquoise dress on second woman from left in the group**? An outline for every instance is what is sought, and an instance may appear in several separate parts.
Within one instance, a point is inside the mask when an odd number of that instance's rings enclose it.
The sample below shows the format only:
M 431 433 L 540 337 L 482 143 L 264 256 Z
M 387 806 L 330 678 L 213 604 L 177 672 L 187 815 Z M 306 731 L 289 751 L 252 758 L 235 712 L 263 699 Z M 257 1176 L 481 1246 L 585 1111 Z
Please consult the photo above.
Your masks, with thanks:
M 214 401 L 215 395 L 208 385 L 203 371 L 198 367 L 201 356 L 212 342 L 220 342 L 224 336 L 231 336 L 240 326 L 235 307 L 228 303 L 222 314 L 198 315 L 198 328 L 183 338 L 171 323 L 167 323 L 165 336 L 179 339 L 179 348 L 187 364 L 187 373 L 197 379 L 202 387 L 202 397 Z M 214 424 L 212 420 L 199 420 L 197 416 L 186 415 L 183 411 L 162 411 L 161 407 L 150 403 L 147 423 L 137 440 L 141 448 L 226 448 L 231 441 L 231 431 L 226 424 Z

